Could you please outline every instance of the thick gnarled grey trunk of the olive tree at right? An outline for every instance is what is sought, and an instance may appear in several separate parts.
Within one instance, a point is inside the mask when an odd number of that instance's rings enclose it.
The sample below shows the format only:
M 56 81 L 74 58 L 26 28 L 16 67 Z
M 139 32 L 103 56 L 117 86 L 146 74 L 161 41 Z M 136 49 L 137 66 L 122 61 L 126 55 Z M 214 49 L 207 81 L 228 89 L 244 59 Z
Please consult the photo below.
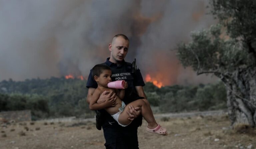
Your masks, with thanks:
M 225 79 L 228 114 L 232 125 L 256 124 L 256 69 L 237 69 Z

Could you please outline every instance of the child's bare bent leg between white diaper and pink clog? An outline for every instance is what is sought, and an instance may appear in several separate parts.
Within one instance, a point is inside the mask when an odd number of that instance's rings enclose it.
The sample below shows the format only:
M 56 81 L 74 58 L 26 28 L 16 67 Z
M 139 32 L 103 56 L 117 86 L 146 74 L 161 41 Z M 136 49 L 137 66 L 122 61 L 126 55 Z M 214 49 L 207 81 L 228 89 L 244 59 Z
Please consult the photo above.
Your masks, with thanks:
M 144 99 L 146 100 L 146 99 Z M 121 124 L 128 125 L 131 121 L 128 119 L 129 115 L 127 114 L 127 111 L 129 110 L 129 106 L 132 105 L 134 107 L 141 107 L 141 114 L 144 117 L 144 119 L 148 122 L 148 128 L 153 129 L 157 127 L 156 120 L 154 118 L 153 112 L 150 108 L 150 105 L 148 101 L 144 101 L 143 99 L 135 100 L 129 104 L 126 105 L 124 108 L 124 111 L 119 115 L 118 121 Z

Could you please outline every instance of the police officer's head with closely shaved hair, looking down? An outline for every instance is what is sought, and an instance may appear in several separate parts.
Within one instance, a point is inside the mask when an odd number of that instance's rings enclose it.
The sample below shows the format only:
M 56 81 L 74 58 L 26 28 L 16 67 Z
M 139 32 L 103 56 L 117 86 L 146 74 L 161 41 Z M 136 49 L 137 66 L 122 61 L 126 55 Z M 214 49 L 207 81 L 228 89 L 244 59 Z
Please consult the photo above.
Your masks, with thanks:
M 110 61 L 120 63 L 124 60 L 129 48 L 129 41 L 123 37 L 117 37 L 112 44 L 109 44 Z

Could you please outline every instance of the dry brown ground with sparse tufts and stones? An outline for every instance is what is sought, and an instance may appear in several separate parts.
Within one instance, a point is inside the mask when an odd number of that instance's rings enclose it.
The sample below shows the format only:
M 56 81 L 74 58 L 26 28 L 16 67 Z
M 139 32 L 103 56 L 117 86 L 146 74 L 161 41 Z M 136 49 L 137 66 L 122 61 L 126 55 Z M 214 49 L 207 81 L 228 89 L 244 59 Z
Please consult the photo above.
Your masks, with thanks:
M 256 148 L 256 130 L 246 127 L 231 129 L 227 115 L 161 118 L 157 121 L 167 128 L 169 135 L 146 132 L 144 121 L 138 129 L 140 149 Z M 30 123 L 1 126 L 0 149 L 104 148 L 103 132 L 96 129 L 94 122 Z

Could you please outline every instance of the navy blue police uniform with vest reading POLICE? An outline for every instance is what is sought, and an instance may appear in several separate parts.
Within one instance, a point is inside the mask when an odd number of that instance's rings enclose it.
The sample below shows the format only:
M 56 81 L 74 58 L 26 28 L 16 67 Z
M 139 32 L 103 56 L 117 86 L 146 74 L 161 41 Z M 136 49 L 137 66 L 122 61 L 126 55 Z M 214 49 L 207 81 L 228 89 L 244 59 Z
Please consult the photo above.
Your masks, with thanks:
M 125 61 L 117 65 L 109 61 L 103 63 L 111 68 L 112 81 L 125 80 L 128 83 L 128 88 L 125 90 L 123 99 L 125 104 L 134 100 L 142 99 L 135 89 L 135 86 L 144 86 L 143 77 L 138 69 L 135 74 L 132 74 L 132 64 Z M 86 87 L 97 88 L 97 83 L 93 80 L 91 71 L 88 76 Z M 142 116 L 135 118 L 131 124 L 126 127 L 120 126 L 113 117 L 104 109 L 99 110 L 102 120 L 102 128 L 106 143 L 106 149 L 138 149 L 137 129 L 142 124 Z M 97 112 L 96 112 L 97 113 Z

